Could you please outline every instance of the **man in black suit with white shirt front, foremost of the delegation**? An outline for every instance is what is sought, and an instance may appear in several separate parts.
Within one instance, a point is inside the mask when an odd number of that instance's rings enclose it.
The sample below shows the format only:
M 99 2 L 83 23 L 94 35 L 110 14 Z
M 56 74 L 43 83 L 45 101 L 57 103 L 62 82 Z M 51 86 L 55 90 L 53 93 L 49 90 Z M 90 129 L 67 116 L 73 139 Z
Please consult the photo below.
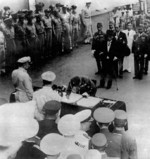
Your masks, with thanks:
M 114 61 L 117 60 L 116 52 L 117 52 L 117 44 L 114 38 L 114 32 L 112 30 L 108 30 L 106 34 L 107 39 L 103 43 L 103 52 L 101 53 L 102 57 L 102 75 L 100 80 L 100 85 L 98 88 L 105 87 L 105 80 L 108 76 L 108 82 L 106 89 L 110 89 L 112 86 L 112 79 L 114 70 Z

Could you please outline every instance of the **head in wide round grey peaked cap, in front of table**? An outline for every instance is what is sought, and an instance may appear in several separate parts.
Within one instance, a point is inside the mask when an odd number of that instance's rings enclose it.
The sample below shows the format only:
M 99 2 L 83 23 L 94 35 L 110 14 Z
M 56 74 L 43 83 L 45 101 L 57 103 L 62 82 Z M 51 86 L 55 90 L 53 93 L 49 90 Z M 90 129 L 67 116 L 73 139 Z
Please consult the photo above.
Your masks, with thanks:
M 102 107 L 94 111 L 93 117 L 100 129 L 108 129 L 109 125 L 114 121 L 115 114 L 111 109 Z

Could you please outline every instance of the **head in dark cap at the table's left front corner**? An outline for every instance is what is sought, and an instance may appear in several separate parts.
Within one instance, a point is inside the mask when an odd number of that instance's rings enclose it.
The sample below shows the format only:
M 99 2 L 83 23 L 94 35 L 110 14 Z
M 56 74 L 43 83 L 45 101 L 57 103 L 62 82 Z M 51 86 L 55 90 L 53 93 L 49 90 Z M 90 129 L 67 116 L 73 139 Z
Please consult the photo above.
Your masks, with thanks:
M 55 100 L 51 100 L 45 103 L 43 112 L 46 119 L 56 120 L 59 117 L 61 109 L 61 103 Z

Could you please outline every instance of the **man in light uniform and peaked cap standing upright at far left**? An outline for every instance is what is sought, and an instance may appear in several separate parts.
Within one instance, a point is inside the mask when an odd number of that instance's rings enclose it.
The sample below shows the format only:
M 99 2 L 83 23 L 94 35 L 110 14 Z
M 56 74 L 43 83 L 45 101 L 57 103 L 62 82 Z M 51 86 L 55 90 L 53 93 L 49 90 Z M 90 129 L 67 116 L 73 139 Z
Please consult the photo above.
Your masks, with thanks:
M 27 72 L 30 67 L 31 58 L 23 57 L 17 62 L 19 67 L 12 72 L 15 100 L 18 102 L 27 102 L 33 98 L 32 79 Z

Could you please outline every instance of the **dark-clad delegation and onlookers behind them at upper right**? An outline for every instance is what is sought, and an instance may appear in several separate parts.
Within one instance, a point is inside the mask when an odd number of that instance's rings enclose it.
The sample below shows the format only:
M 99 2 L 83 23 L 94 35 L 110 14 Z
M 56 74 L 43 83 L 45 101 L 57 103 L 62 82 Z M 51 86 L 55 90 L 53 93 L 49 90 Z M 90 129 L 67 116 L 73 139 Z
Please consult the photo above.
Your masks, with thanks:
M 147 75 L 149 42 L 150 21 L 143 11 L 135 16 L 132 10 L 117 10 L 110 18 L 106 33 L 103 32 L 103 24 L 98 23 L 97 32 L 93 36 L 92 53 L 98 68 L 96 74 L 101 74 L 99 87 L 105 87 L 108 76 L 106 88 L 111 88 L 112 79 L 123 78 L 124 72 L 130 73 L 133 63 L 133 79 L 142 79 L 144 74 Z

